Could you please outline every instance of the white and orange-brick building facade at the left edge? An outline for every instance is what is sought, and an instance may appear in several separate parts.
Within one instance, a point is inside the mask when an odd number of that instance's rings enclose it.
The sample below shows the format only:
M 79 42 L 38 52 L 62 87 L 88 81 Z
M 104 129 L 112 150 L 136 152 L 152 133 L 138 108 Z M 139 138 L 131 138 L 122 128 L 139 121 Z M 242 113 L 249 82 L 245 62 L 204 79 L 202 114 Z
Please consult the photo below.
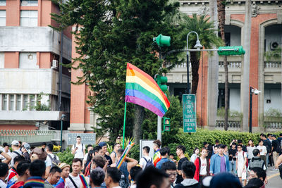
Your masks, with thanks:
M 71 30 L 64 30 L 61 41 L 61 32 L 50 27 L 58 26 L 50 13 L 59 13 L 59 6 L 49 0 L 0 0 L 0 130 L 56 129 L 70 112 L 66 67 L 61 111 L 58 95 L 60 54 L 63 64 L 71 63 Z

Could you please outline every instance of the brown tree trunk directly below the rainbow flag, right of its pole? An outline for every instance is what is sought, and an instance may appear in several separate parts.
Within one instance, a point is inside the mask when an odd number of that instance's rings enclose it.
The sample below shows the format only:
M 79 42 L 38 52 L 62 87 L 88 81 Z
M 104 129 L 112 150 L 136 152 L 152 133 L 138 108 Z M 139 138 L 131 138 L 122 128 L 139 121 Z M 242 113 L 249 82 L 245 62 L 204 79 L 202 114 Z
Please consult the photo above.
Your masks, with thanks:
M 133 138 L 134 142 L 139 144 L 140 139 L 142 139 L 142 123 L 144 120 L 144 107 L 135 105 L 135 119 L 133 126 Z

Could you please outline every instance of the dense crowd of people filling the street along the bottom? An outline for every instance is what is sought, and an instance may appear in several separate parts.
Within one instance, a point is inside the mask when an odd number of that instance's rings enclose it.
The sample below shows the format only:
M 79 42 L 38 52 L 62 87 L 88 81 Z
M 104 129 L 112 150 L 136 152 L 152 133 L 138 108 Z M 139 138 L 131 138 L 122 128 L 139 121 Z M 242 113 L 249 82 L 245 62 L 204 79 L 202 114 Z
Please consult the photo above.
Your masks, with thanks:
M 161 147 L 155 140 L 149 156 L 149 146 L 142 148 L 142 158 L 123 157 L 121 144 L 114 144 L 108 152 L 106 142 L 97 146 L 76 143 L 71 148 L 74 158 L 71 164 L 61 163 L 53 153 L 53 144 L 43 143 L 31 147 L 14 140 L 10 151 L 7 143 L 0 149 L 0 187 L 108 187 L 108 188 L 168 188 L 168 187 L 264 187 L 267 184 L 266 169 L 282 163 L 282 134 L 261 134 L 255 145 L 247 146 L 242 140 L 233 139 L 229 146 L 216 140 L 215 144 L 203 142 L 195 148 L 190 160 L 185 146 L 176 148 L 177 159 L 171 149 Z

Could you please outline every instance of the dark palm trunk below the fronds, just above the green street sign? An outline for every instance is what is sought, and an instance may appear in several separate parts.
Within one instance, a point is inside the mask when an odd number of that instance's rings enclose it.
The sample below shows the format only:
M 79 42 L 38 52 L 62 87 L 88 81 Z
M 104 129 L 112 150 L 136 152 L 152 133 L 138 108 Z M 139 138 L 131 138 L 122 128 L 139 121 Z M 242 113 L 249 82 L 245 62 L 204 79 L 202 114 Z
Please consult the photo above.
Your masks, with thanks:
M 197 51 L 190 51 L 190 61 L 192 65 L 192 87 L 191 94 L 197 93 L 197 87 L 199 82 L 199 63 L 200 60 L 197 57 Z

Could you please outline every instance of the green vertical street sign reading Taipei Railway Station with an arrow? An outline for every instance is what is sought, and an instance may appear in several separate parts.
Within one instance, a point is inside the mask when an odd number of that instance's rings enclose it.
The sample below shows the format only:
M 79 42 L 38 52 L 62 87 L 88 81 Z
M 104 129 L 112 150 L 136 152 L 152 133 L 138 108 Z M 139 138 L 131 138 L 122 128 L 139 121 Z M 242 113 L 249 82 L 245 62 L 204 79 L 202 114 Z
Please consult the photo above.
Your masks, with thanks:
M 196 116 L 196 96 L 195 94 L 183 94 L 183 130 L 184 132 L 196 132 L 197 116 Z

